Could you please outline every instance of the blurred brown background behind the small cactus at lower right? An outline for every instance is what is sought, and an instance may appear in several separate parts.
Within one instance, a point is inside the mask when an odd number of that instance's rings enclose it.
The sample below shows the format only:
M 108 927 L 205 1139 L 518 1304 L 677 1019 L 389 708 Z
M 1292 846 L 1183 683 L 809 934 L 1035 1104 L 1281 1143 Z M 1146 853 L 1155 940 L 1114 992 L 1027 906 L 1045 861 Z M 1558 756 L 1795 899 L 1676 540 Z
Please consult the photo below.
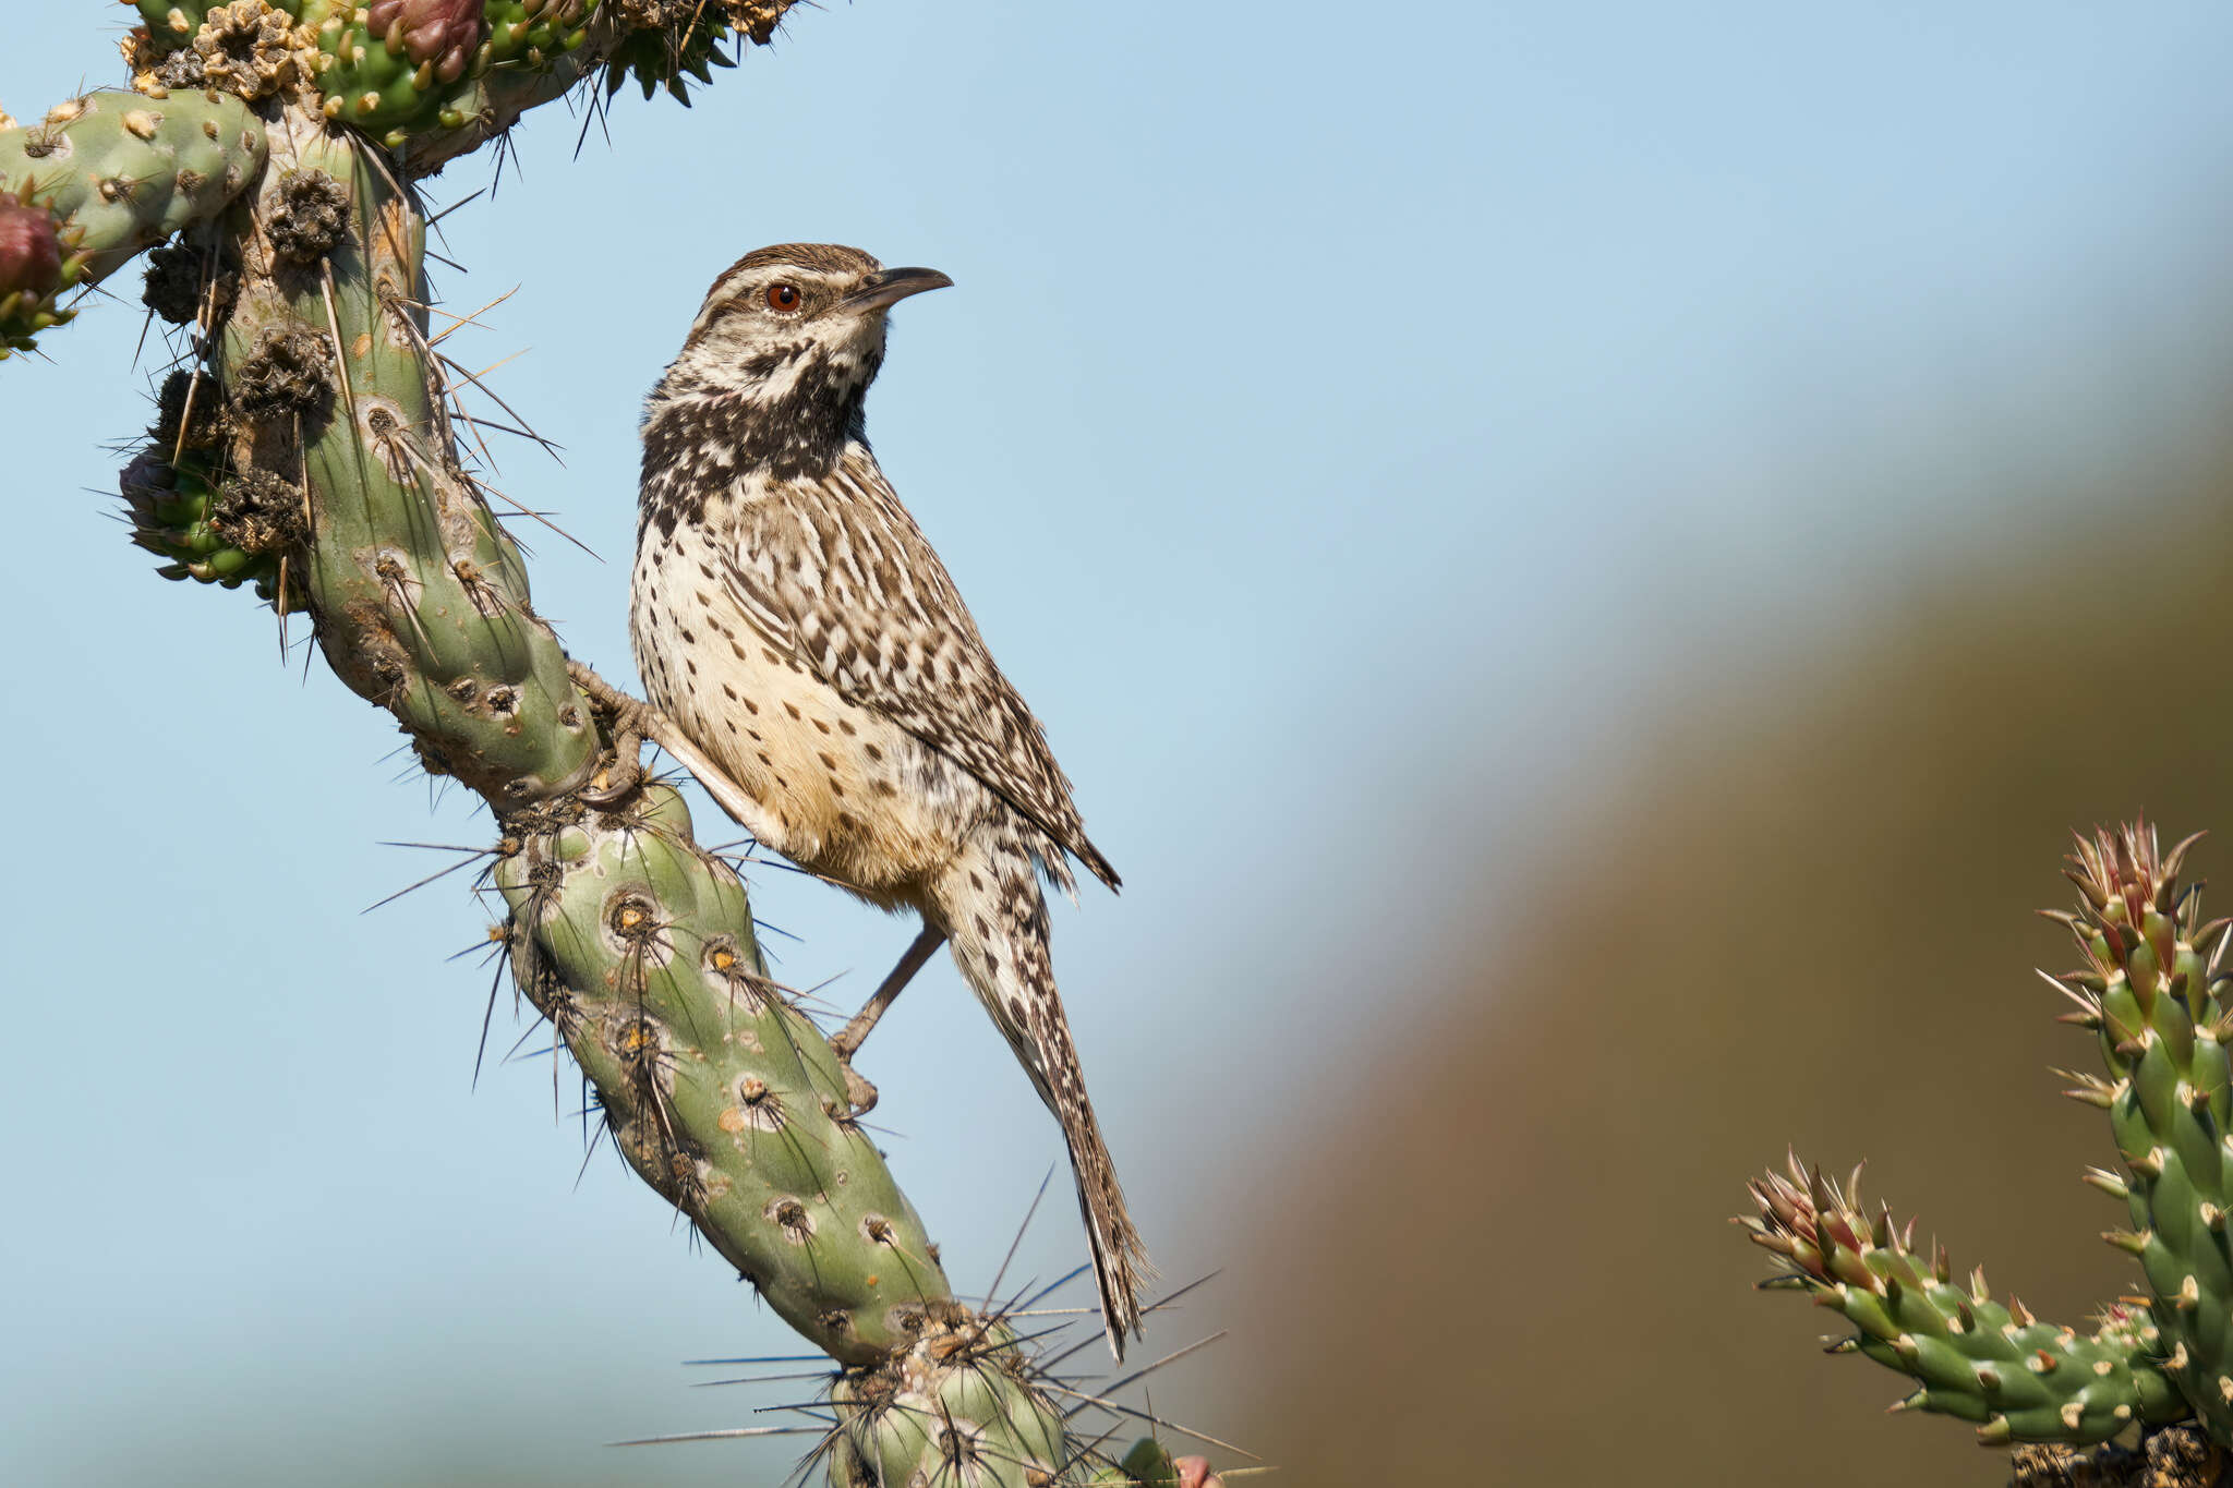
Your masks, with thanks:
M 2191 861 L 2233 879 L 2233 446 L 2155 464 L 1681 696 L 1588 819 L 1483 846 L 1527 890 L 1447 926 L 1460 995 L 1364 993 L 1445 1013 L 1297 1102 L 1280 1238 L 1237 1258 L 1268 1368 L 1213 1392 L 1280 1481 L 2005 1477 L 1958 1421 L 1880 1417 L 1905 1383 L 1751 1292 L 1766 1254 L 1726 1216 L 1793 1142 L 1867 1158 L 2043 1316 L 2139 1287 L 2077 1182 L 2110 1147 L 2048 1073 L 2092 1051 L 2032 910 L 2068 897 L 2072 825 L 2141 808 L 2166 843 L 2220 828 Z

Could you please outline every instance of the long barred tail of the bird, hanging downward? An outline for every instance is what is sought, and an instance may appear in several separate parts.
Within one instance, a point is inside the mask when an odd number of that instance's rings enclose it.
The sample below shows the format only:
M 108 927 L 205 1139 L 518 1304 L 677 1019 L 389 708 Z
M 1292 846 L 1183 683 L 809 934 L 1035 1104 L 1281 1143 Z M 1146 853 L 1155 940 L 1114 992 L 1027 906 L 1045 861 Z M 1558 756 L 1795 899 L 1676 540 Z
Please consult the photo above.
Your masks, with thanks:
M 1085 1093 L 1085 1071 L 1070 1040 L 1070 1020 L 1054 991 L 1047 901 L 1032 859 L 1018 850 L 1003 854 L 991 872 L 985 868 L 958 875 L 953 883 L 960 890 L 953 897 L 962 901 L 947 906 L 960 910 L 947 928 L 953 962 L 1032 1075 L 1038 1098 L 1063 1124 L 1085 1240 L 1094 1256 L 1101 1325 L 1121 1363 L 1125 1334 L 1139 1334 L 1139 1289 L 1154 1278 L 1154 1267 L 1148 1265 L 1148 1247 L 1132 1227 L 1116 1185 L 1116 1165 L 1101 1140 L 1101 1122 Z

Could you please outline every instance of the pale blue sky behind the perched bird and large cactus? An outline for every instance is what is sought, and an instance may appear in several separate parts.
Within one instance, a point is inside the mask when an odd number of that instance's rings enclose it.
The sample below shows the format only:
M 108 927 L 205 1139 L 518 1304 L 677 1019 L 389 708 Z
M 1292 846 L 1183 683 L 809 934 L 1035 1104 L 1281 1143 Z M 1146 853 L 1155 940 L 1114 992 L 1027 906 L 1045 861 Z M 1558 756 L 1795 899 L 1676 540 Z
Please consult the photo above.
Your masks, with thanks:
M 118 16 L 11 18 L 0 103 L 109 80 Z M 1431 955 L 1389 982 L 1389 948 L 1494 933 L 1635 718 L 1802 665 L 2208 415 L 2229 42 L 2211 4 L 833 2 L 578 158 L 545 109 L 438 288 L 516 288 L 453 341 L 525 348 L 496 386 L 565 464 L 498 448 L 498 484 L 603 555 L 520 529 L 538 607 L 623 676 L 636 404 L 703 286 L 786 239 L 956 279 L 898 315 L 871 435 L 1125 875 L 1056 912 L 1056 966 L 1190 1278 L 1257 1243 L 1250 1156 L 1431 1026 Z M 270 616 L 123 542 L 105 446 L 156 357 L 116 288 L 0 370 L 0 1452 L 40 1484 L 735 1481 L 750 1448 L 598 1443 L 746 1421 L 677 1361 L 788 1334 L 581 1167 L 572 1075 L 469 1089 L 487 975 L 444 957 L 485 915 L 360 910 L 444 861 L 377 843 L 487 821 L 397 779 Z M 833 1002 L 911 935 L 779 872 L 755 897 Z M 523 1031 L 507 995 L 493 1053 Z M 864 1066 L 983 1285 L 1052 1122 L 942 962 Z M 1081 1252 L 1050 1216 L 1047 1276 Z

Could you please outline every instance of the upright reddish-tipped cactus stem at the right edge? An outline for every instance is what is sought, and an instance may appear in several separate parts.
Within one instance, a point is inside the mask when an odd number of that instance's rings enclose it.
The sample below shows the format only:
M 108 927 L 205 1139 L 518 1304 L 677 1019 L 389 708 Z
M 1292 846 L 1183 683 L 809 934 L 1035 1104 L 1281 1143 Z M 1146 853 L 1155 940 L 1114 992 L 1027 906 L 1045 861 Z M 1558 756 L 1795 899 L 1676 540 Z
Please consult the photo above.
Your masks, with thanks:
M 2213 953 L 2226 926 L 2204 926 L 2200 892 L 2177 881 L 2197 837 L 2168 854 L 2146 823 L 2079 837 L 2068 877 L 2081 899 L 2057 919 L 2086 957 L 2061 982 L 2079 1002 L 2077 1022 L 2097 1031 L 2110 1073 L 2108 1118 L 2130 1216 L 2130 1229 L 2112 1236 L 2148 1276 L 2164 1368 L 2211 1434 L 2233 1441 L 2233 1020 L 2215 993 L 2224 975 Z

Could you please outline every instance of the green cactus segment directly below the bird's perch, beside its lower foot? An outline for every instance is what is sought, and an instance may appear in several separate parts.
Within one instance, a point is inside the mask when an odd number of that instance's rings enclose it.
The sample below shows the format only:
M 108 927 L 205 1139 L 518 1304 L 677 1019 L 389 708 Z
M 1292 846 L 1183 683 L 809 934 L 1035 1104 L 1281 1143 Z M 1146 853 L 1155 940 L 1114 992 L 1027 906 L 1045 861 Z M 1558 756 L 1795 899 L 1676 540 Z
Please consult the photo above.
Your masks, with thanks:
M 692 846 L 681 796 L 648 785 L 625 817 L 511 828 L 496 883 L 514 973 L 643 1180 L 833 1359 L 878 1363 L 965 1318 L 851 1120 L 837 1057 L 764 977 L 744 886 Z

